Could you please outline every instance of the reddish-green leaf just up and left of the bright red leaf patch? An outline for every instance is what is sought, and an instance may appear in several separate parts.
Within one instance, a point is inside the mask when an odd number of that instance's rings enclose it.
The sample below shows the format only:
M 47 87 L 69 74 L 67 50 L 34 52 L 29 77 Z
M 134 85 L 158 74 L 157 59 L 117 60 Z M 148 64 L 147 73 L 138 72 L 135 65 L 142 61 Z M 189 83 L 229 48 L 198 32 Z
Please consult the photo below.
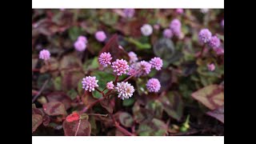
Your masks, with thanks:
M 48 102 L 42 107 L 48 115 L 66 115 L 66 109 L 62 102 Z

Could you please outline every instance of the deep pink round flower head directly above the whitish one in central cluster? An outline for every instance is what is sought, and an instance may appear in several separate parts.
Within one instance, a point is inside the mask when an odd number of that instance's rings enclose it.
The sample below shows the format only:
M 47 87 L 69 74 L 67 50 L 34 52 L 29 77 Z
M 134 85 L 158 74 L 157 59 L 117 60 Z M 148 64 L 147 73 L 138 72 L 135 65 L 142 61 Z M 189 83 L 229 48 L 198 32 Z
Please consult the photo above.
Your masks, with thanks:
M 115 62 L 112 62 L 112 68 L 113 71 L 119 76 L 122 74 L 126 74 L 126 70 L 129 70 L 128 62 L 123 59 L 117 59 Z

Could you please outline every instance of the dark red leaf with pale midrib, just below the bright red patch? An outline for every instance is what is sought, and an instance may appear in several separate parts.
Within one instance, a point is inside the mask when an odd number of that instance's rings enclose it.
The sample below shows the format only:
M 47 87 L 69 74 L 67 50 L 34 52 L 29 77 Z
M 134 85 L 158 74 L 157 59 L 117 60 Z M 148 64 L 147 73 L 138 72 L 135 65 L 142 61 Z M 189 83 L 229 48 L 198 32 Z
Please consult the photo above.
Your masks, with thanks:
M 80 122 L 80 126 L 78 127 L 78 123 Z M 78 130 L 77 136 L 90 136 L 91 126 L 90 122 L 86 119 L 82 119 L 80 121 L 74 122 L 63 122 L 63 130 L 66 136 L 74 136 L 76 131 Z

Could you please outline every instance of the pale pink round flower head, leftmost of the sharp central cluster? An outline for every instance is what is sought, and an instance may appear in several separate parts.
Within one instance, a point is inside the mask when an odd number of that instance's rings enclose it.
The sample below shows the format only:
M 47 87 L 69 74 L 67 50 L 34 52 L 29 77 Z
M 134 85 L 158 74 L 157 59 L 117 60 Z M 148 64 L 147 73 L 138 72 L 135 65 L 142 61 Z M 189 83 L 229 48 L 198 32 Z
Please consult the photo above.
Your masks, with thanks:
M 84 90 L 89 90 L 90 92 L 91 91 L 94 91 L 95 87 L 98 87 L 98 84 L 97 84 L 98 80 L 96 80 L 96 77 L 91 77 L 91 76 L 88 76 L 86 78 L 82 78 L 82 88 Z

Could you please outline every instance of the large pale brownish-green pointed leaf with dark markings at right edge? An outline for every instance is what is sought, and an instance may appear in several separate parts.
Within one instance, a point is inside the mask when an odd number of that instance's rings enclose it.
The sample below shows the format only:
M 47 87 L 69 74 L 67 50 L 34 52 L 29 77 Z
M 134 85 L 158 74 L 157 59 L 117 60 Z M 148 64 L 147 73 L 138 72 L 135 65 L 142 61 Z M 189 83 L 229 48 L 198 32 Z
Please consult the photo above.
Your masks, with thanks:
M 210 110 L 215 110 L 224 104 L 224 92 L 221 86 L 206 86 L 192 94 L 192 97 Z

